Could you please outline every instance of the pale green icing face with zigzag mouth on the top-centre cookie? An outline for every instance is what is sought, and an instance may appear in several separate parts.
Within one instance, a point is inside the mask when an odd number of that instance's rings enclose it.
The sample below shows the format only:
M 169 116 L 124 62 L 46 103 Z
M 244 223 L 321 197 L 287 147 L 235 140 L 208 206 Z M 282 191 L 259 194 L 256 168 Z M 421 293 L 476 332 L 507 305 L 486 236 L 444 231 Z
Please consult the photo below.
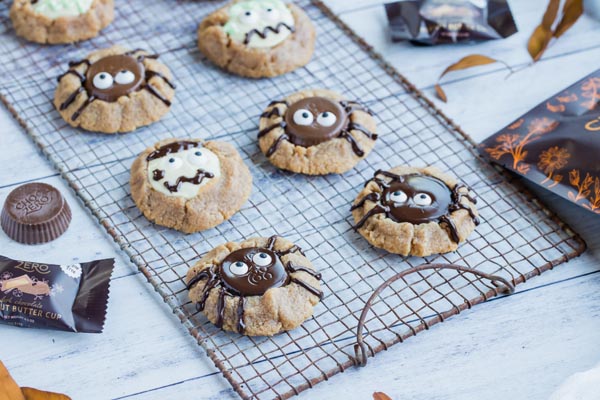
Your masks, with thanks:
M 294 31 L 294 16 L 281 0 L 246 0 L 229 8 L 223 29 L 248 47 L 274 47 Z

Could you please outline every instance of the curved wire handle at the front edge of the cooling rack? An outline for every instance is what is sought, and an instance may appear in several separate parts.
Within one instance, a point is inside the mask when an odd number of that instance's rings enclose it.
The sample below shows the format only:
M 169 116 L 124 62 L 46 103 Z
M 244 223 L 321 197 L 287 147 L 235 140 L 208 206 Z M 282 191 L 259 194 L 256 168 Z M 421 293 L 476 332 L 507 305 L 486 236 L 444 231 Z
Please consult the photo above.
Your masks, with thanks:
M 358 365 L 360 367 L 364 367 L 367 365 L 368 351 L 367 351 L 367 345 L 363 341 L 363 328 L 365 325 L 365 320 L 367 318 L 367 314 L 368 314 L 369 310 L 371 310 L 371 307 L 372 307 L 373 303 L 375 302 L 375 300 L 377 299 L 377 297 L 379 297 L 381 292 L 383 292 L 387 287 L 389 287 L 392 283 L 394 283 L 398 279 L 403 278 L 406 275 L 410 275 L 415 272 L 430 270 L 430 269 L 453 269 L 455 271 L 468 272 L 470 274 L 485 278 L 485 279 L 489 280 L 496 287 L 496 289 L 495 289 L 496 296 L 499 293 L 513 294 L 515 292 L 515 287 L 513 286 L 513 284 L 501 276 L 490 275 L 485 272 L 478 271 L 476 269 L 467 268 L 467 267 L 463 267 L 463 266 L 456 265 L 456 264 L 421 264 L 418 267 L 410 268 L 405 271 L 399 272 L 398 274 L 392 276 L 387 281 L 382 283 L 377 289 L 375 289 L 375 291 L 373 292 L 371 297 L 369 297 L 369 300 L 367 300 L 367 302 L 365 303 L 365 307 L 363 308 L 362 313 L 360 314 L 360 319 L 358 320 L 358 326 L 356 329 L 356 344 L 354 345 L 356 365 Z M 470 306 L 469 306 L 469 308 L 470 308 Z

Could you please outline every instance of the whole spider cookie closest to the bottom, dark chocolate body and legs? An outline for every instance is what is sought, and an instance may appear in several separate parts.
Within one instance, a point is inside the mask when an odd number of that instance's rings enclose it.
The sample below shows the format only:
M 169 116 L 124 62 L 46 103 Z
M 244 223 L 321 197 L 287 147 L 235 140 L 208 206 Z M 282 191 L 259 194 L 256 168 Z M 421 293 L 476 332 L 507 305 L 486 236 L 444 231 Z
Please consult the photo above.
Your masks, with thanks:
M 321 274 L 277 236 L 220 245 L 187 273 L 190 300 L 226 331 L 271 336 L 297 328 L 323 297 Z

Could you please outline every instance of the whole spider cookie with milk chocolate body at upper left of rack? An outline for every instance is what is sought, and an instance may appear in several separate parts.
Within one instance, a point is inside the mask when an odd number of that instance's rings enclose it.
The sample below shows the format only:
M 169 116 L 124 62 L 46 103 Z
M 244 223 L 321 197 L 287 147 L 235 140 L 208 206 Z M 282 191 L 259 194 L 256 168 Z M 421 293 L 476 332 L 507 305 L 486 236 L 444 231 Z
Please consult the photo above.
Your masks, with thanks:
M 114 46 L 70 62 L 58 77 L 54 106 L 69 125 L 94 132 L 130 132 L 156 122 L 175 95 L 171 72 L 157 58 Z

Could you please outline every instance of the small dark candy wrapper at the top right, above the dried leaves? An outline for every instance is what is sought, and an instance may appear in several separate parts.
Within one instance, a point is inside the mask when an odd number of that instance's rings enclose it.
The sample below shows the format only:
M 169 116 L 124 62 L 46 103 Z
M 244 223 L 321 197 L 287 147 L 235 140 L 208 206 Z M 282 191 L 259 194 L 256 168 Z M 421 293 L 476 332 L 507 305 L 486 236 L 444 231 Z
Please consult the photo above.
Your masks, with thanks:
M 402 0 L 385 5 L 392 40 L 481 42 L 517 32 L 506 0 Z

